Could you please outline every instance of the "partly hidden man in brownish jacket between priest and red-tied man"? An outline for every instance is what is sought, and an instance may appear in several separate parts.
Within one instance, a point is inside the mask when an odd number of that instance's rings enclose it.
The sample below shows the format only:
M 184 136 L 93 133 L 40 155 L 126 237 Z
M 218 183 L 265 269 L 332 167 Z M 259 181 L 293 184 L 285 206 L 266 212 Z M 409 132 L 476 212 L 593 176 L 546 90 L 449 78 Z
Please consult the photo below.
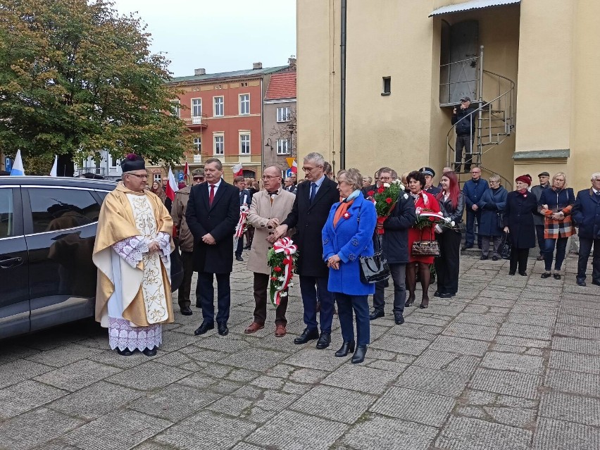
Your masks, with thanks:
M 193 185 L 203 183 L 204 169 L 193 170 L 192 179 Z M 192 236 L 192 232 L 189 231 L 185 220 L 185 210 L 187 208 L 187 201 L 189 200 L 189 191 L 191 190 L 192 185 L 175 192 L 175 200 L 171 207 L 171 217 L 173 218 L 173 224 L 177 227 L 181 262 L 183 265 L 183 282 L 181 283 L 177 294 L 177 301 L 179 302 L 179 307 L 183 315 L 192 315 L 192 309 L 189 308 L 189 305 L 191 304 L 191 301 L 189 301 L 189 294 L 192 292 L 192 274 L 194 273 L 194 268 L 192 267 L 194 261 L 194 236 Z M 197 300 L 196 306 L 199 307 Z

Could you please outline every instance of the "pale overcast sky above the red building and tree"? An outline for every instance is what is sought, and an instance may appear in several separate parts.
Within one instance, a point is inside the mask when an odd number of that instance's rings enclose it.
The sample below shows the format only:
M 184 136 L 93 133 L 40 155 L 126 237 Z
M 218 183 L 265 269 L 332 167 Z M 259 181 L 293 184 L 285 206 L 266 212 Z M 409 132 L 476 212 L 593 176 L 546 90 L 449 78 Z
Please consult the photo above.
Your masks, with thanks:
M 148 25 L 173 76 L 286 65 L 296 54 L 296 0 L 115 0 Z

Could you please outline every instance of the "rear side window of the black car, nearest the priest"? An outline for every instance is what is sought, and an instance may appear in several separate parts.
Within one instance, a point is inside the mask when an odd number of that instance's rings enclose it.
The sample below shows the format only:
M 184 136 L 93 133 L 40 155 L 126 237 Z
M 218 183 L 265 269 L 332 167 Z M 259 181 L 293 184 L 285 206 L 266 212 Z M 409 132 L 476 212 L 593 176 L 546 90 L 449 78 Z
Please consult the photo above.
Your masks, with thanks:
M 98 221 L 100 205 L 85 189 L 30 189 L 33 232 L 66 230 Z

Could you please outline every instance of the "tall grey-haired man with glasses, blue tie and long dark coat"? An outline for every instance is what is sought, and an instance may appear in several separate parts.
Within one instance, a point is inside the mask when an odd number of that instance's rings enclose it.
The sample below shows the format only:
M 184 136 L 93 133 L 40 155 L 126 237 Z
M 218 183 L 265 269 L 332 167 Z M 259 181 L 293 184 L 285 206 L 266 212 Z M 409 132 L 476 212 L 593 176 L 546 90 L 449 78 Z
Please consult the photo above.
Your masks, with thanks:
M 331 342 L 334 296 L 327 289 L 329 269 L 323 262 L 323 240 L 321 231 L 327 222 L 331 206 L 339 201 L 337 184 L 327 178 L 323 171 L 325 160 L 318 153 L 310 153 L 304 158 L 306 182 L 298 185 L 292 212 L 275 228 L 279 238 L 292 228 L 292 236 L 298 245 L 299 258 L 297 273 L 300 275 L 300 293 L 304 304 L 306 328 L 294 344 L 305 344 L 318 339 L 317 348 L 325 349 Z M 321 333 L 317 322 L 317 291 L 320 301 Z

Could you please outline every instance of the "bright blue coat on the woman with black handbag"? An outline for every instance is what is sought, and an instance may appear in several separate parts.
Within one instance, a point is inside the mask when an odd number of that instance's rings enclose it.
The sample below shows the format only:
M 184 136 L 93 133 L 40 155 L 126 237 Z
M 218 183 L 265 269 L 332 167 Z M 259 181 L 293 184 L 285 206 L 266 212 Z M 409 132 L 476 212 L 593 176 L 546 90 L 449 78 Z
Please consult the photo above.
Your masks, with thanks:
M 369 295 L 375 293 L 375 285 L 361 282 L 359 256 L 372 256 L 373 231 L 377 225 L 375 205 L 358 194 L 348 208 L 349 218 L 340 218 L 337 227 L 333 227 L 333 218 L 339 202 L 331 207 L 327 223 L 323 227 L 323 261 L 337 254 L 341 259 L 339 270 L 330 268 L 330 292 L 342 292 L 348 295 Z

